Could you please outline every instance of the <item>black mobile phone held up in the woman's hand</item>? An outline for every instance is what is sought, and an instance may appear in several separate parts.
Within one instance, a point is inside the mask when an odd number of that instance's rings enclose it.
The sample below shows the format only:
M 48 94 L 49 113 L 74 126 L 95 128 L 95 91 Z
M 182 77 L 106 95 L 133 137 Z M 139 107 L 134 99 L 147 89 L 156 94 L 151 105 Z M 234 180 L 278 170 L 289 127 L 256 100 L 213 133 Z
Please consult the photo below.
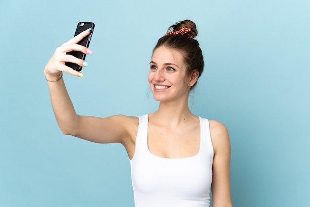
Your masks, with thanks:
M 74 34 L 74 37 L 75 37 L 78 34 L 80 34 L 81 32 L 83 32 L 89 28 L 91 28 L 91 33 L 88 36 L 84 37 L 78 43 L 79 45 L 85 46 L 87 48 L 89 47 L 89 44 L 91 42 L 91 38 L 93 35 L 95 24 L 93 22 L 79 22 L 78 25 L 76 26 L 76 30 L 75 30 L 75 34 Z M 67 54 L 71 54 L 71 55 L 73 55 L 77 58 L 80 58 L 82 60 L 85 60 L 85 57 L 86 57 L 86 54 L 84 54 L 83 52 L 78 52 L 78 51 L 67 52 Z M 82 66 L 75 64 L 73 62 L 66 62 L 66 65 L 73 68 L 74 70 L 77 70 L 77 71 L 81 71 L 83 68 Z

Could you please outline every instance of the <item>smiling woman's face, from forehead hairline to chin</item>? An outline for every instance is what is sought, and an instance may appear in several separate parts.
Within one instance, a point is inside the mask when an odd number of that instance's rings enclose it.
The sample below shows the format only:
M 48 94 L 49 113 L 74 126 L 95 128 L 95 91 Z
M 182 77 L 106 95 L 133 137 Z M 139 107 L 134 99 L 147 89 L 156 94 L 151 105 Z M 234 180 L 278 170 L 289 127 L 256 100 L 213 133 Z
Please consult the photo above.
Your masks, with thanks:
M 177 50 L 159 47 L 154 51 L 148 80 L 156 101 L 188 98 L 190 78 L 183 62 L 183 54 Z

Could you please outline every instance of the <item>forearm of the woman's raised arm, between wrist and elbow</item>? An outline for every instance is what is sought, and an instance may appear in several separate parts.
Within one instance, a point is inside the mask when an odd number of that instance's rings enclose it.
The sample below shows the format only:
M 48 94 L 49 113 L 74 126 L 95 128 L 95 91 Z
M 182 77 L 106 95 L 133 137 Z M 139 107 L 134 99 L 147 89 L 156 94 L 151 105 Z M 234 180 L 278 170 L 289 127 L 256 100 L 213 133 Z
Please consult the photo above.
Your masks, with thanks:
M 56 80 L 56 77 L 47 74 L 46 77 L 48 80 Z M 57 82 L 48 81 L 48 85 L 52 108 L 61 131 L 64 134 L 75 134 L 79 126 L 79 116 L 75 112 L 63 79 Z

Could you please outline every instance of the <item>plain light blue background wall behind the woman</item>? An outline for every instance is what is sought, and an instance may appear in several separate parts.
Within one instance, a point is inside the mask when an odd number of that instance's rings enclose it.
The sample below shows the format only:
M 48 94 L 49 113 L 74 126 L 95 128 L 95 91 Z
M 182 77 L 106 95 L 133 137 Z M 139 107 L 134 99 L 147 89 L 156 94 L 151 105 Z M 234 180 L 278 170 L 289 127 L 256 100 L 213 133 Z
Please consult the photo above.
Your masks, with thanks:
M 309 206 L 309 0 L 2 0 L 0 19 L 1 207 L 133 207 L 124 148 L 63 135 L 43 70 L 93 21 L 84 77 L 64 74 L 76 111 L 153 112 L 152 49 L 184 19 L 206 62 L 191 109 L 229 129 L 234 206 Z

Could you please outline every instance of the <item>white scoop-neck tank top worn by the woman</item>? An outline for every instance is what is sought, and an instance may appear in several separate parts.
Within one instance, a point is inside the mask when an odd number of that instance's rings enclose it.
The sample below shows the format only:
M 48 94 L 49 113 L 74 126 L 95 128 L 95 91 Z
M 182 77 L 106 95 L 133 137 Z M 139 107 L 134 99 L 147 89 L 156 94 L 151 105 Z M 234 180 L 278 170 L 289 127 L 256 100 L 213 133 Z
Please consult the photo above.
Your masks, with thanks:
M 209 207 L 213 147 L 209 122 L 200 119 L 200 149 L 185 158 L 163 158 L 148 148 L 148 114 L 139 116 L 131 164 L 135 207 Z

